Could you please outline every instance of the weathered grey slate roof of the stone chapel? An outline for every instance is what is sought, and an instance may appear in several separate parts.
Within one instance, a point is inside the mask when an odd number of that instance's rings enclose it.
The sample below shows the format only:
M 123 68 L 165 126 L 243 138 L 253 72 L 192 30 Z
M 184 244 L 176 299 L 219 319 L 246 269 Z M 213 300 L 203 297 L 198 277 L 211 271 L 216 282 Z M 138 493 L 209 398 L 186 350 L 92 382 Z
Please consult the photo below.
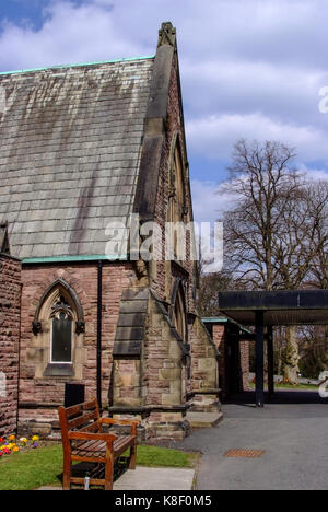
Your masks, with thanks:
M 0 223 L 25 258 L 104 255 L 127 221 L 153 58 L 0 74 Z

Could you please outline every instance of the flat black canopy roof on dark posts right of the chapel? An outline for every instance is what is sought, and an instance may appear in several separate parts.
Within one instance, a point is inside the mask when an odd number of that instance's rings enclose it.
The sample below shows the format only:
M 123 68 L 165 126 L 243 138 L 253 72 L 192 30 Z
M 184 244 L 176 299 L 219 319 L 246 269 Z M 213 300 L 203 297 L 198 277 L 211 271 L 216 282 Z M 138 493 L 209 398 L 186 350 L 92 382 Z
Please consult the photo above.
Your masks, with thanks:
M 326 325 L 328 290 L 220 292 L 219 307 L 244 325 L 255 325 L 258 311 L 265 325 Z

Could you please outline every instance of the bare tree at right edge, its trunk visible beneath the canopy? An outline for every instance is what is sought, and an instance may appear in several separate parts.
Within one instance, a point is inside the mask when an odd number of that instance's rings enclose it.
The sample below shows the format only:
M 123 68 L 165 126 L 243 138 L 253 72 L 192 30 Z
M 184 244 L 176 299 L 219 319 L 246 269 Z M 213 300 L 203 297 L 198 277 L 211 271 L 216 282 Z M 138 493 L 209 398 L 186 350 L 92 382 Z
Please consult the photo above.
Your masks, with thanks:
M 311 272 L 325 259 L 325 230 L 328 189 L 324 184 L 303 183 L 302 187 L 283 200 L 279 236 L 273 240 L 273 263 L 281 287 L 298 289 L 311 286 Z M 327 274 L 327 269 L 326 269 Z M 313 284 L 312 284 L 313 287 Z M 297 383 L 300 336 L 296 326 L 285 330 L 286 349 L 284 381 Z

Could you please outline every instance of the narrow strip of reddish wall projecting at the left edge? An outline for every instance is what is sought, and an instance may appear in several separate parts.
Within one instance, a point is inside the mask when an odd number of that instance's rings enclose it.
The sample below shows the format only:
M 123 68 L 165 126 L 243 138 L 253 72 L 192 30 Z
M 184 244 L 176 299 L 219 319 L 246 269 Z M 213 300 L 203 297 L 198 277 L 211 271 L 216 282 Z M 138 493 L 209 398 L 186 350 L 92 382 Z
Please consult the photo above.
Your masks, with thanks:
M 21 261 L 0 255 L 0 435 L 16 430 Z M 5 377 L 4 377 L 5 376 Z M 5 387 L 4 387 L 5 386 Z

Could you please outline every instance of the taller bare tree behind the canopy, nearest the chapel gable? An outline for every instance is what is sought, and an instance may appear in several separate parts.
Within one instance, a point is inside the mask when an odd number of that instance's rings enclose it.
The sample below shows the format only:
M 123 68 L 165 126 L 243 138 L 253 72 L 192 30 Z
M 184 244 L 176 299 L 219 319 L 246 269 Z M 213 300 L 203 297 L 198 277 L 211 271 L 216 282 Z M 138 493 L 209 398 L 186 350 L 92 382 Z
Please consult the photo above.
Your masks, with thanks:
M 267 141 L 235 144 L 226 190 L 237 195 L 233 210 L 224 213 L 225 254 L 245 288 L 281 288 L 273 248 L 280 237 L 281 218 L 301 187 L 292 168 L 294 151 Z

